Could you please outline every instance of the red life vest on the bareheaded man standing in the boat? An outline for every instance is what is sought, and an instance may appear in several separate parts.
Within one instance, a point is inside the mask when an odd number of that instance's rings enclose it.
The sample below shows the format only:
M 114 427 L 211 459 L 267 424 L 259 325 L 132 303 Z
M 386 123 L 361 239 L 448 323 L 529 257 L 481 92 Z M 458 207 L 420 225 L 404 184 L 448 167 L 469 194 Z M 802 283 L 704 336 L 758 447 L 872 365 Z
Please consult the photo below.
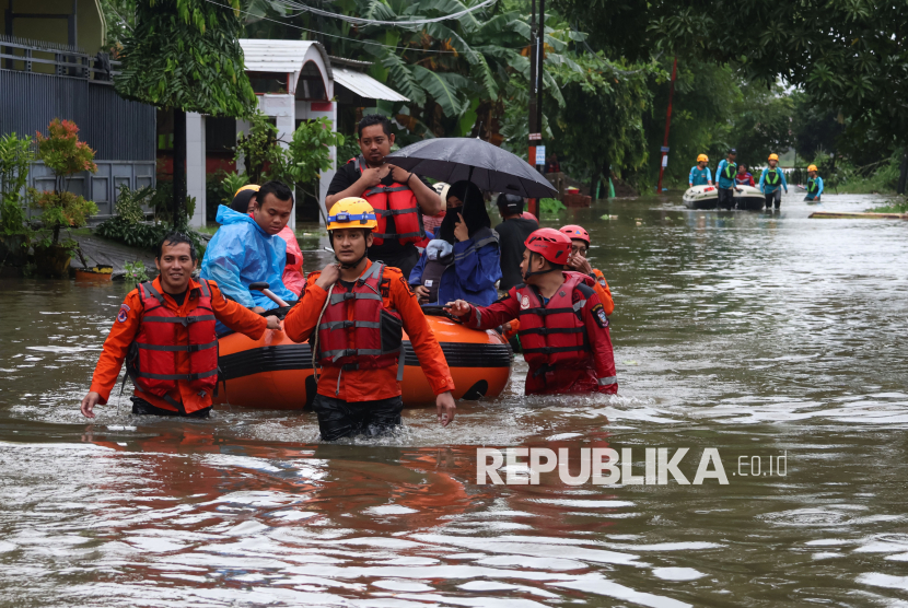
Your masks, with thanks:
M 357 171 L 362 174 L 365 168 L 365 159 L 357 156 L 350 159 Z M 375 210 L 375 219 L 379 226 L 372 233 L 375 245 L 382 245 L 385 238 L 396 238 L 401 245 L 419 243 L 426 238 L 426 230 L 422 227 L 422 213 L 419 211 L 419 203 L 416 195 L 406 184 L 393 183 L 391 186 L 377 186 L 368 189 L 362 198 Z M 394 217 L 394 232 L 386 232 L 387 218 Z

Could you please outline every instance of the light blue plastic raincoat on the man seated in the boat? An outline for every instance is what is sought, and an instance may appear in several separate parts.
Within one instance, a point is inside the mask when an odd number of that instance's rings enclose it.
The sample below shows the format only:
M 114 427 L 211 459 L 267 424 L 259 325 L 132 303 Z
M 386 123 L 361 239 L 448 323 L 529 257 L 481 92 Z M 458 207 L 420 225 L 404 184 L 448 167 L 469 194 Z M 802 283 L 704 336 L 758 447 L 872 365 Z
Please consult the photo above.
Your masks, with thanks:
M 296 300 L 283 285 L 281 276 L 287 265 L 287 242 L 278 235 L 269 235 L 255 220 L 237 213 L 230 207 L 218 207 L 217 221 L 221 224 L 208 244 L 201 260 L 202 279 L 218 283 L 221 293 L 252 308 L 266 311 L 278 305 L 258 291 L 249 291 L 249 284 L 266 281 L 270 290 L 284 302 Z

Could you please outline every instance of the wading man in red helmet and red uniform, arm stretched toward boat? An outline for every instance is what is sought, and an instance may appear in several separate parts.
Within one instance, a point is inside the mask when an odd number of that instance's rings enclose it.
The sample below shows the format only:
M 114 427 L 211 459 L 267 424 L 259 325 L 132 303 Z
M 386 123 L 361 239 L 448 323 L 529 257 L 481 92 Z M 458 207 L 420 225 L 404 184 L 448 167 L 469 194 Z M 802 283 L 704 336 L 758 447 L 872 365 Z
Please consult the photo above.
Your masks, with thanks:
M 521 270 L 526 284 L 512 288 L 488 307 L 457 300 L 447 308 L 468 327 L 491 329 L 516 318 L 529 365 L 526 395 L 618 391 L 608 317 L 593 285 L 566 272 L 571 239 L 540 229 L 526 239 Z

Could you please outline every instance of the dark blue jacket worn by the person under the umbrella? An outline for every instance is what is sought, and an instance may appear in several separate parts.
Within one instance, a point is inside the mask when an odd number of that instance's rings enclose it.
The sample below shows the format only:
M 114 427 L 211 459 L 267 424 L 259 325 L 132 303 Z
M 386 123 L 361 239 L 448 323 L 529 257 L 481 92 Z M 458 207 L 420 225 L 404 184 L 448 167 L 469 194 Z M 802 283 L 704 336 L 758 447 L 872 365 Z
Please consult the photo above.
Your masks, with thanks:
M 427 253 L 410 272 L 411 285 L 422 284 Z M 501 279 L 501 253 L 498 233 L 484 227 L 473 236 L 454 244 L 454 264 L 449 266 L 439 282 L 438 302 L 429 304 L 447 304 L 455 300 L 465 300 L 477 306 L 489 306 L 498 300 L 496 282 Z

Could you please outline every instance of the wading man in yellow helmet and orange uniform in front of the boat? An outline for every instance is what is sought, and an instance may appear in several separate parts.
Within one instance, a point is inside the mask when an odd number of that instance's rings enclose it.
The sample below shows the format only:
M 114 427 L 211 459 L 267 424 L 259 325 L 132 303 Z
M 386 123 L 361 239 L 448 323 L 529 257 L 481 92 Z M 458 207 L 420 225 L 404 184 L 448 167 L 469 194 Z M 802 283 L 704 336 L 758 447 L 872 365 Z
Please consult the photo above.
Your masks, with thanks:
M 363 199 L 331 208 L 327 229 L 337 264 L 310 272 L 301 305 L 283 324 L 291 340 L 311 339 L 319 372 L 312 408 L 324 441 L 400 425 L 401 329 L 436 395 L 439 422 L 454 420 L 454 381 L 416 295 L 400 270 L 366 257 L 377 225 Z

